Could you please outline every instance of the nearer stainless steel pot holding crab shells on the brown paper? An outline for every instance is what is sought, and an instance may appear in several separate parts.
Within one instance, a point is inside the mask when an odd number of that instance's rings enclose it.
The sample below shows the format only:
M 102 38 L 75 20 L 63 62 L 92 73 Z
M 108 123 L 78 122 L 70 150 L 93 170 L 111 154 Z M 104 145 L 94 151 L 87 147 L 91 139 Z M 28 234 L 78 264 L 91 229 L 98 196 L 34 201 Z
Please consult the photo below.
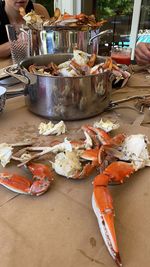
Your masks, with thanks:
M 80 77 L 54 77 L 31 74 L 31 64 L 60 64 L 72 54 L 30 57 L 21 62 L 21 75 L 9 73 L 25 83 L 25 102 L 30 111 L 54 120 L 78 120 L 95 116 L 110 102 L 110 72 Z M 105 59 L 97 57 L 97 63 Z M 8 71 L 8 70 L 7 70 Z

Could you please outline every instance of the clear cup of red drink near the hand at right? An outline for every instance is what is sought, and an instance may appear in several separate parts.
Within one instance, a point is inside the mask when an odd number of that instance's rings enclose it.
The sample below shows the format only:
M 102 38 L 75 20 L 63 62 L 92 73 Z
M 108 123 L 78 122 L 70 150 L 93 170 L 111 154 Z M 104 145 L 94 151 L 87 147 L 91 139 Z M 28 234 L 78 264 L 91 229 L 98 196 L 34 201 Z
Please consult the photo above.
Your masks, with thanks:
M 130 47 L 112 47 L 111 48 L 111 58 L 117 64 L 131 64 L 131 48 Z

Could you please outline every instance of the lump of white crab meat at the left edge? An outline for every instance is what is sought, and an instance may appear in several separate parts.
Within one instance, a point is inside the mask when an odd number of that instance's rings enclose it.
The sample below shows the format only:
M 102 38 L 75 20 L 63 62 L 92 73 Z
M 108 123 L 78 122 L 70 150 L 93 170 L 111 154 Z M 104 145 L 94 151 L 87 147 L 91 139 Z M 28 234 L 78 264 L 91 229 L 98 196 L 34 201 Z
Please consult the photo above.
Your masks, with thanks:
M 12 151 L 12 146 L 8 145 L 7 143 L 0 144 L 0 162 L 3 167 L 5 167 L 7 163 L 10 162 Z

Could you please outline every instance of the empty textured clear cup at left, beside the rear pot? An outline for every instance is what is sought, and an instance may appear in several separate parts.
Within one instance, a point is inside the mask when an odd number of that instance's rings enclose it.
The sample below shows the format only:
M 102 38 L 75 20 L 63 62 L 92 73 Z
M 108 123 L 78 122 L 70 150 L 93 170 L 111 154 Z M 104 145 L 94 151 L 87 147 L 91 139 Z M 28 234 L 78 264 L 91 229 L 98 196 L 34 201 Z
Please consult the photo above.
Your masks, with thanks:
M 30 56 L 29 28 L 25 25 L 6 25 L 13 64 Z

